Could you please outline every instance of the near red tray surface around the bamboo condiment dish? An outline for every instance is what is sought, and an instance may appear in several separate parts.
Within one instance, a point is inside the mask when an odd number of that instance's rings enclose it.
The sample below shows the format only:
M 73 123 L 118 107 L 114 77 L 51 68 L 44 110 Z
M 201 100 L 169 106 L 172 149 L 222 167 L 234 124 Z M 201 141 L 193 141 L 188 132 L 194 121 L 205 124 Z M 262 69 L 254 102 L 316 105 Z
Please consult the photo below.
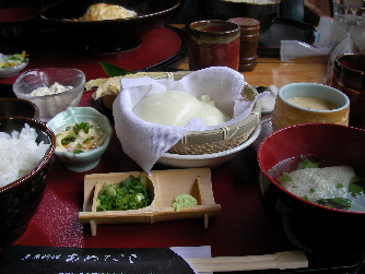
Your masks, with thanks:
M 84 94 L 80 105 L 96 107 L 91 92 Z M 256 152 L 251 147 L 212 170 L 213 193 L 222 211 L 217 217 L 210 219 L 209 228 L 203 227 L 203 219 L 200 218 L 98 225 L 97 236 L 93 237 L 90 226 L 82 226 L 78 221 L 83 204 L 85 174 L 132 170 L 141 168 L 122 152 L 116 135 L 99 165 L 87 172 L 69 171 L 55 159 L 39 209 L 15 245 L 84 248 L 211 246 L 213 255 L 266 254 L 291 248 L 261 207 Z

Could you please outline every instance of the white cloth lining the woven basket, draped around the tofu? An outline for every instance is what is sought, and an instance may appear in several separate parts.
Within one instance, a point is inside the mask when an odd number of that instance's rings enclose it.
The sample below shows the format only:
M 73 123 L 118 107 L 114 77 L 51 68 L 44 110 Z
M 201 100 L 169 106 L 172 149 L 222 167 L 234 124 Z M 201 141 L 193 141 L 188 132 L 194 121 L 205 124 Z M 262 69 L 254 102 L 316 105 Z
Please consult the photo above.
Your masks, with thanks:
M 113 104 L 113 116 L 123 152 L 144 171 L 150 172 L 157 159 L 189 131 L 227 127 L 247 117 L 255 102 L 247 102 L 240 95 L 244 84 L 244 75 L 226 67 L 195 71 L 179 81 L 121 79 L 120 93 Z M 193 118 L 185 127 L 169 127 L 146 122 L 133 114 L 136 105 L 148 94 L 173 90 L 196 97 L 210 95 L 216 107 L 234 119 L 220 126 L 205 126 L 199 118 Z M 257 99 L 264 96 L 260 94 Z

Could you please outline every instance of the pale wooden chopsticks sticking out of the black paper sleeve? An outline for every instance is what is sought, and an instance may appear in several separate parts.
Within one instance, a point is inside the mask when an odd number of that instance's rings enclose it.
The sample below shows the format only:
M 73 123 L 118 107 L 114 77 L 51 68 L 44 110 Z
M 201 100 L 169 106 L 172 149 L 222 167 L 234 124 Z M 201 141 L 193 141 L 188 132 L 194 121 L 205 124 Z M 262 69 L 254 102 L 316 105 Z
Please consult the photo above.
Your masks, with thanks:
M 197 272 L 308 267 L 308 260 L 303 251 L 284 251 L 274 254 L 247 257 L 187 258 L 187 261 Z

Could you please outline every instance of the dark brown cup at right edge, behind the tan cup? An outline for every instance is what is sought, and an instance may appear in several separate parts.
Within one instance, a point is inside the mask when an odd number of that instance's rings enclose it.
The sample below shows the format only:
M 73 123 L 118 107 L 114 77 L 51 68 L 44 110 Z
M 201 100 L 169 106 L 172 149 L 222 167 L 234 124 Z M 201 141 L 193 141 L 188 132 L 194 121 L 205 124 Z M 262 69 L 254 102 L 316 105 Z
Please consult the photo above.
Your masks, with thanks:
M 350 98 L 350 126 L 365 129 L 365 53 L 339 56 L 331 86 Z

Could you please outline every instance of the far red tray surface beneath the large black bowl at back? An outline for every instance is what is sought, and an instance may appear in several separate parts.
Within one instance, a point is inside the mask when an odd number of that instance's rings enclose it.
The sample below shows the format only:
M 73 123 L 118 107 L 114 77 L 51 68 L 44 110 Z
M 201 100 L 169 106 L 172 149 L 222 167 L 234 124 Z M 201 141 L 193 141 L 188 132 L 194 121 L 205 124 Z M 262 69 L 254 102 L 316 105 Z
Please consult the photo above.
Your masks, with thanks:
M 146 69 L 160 63 L 168 62 L 184 50 L 181 37 L 174 27 L 157 27 L 141 37 L 141 44 L 130 50 L 120 52 L 92 52 L 60 48 L 51 38 L 42 37 L 42 45 L 35 41 L 30 49 L 30 63 L 23 70 L 39 68 L 74 68 L 85 73 L 86 81 L 106 78 L 99 62 L 117 64 L 130 71 Z M 37 38 L 35 38 L 37 39 Z M 49 45 L 48 45 L 48 44 Z M 56 44 L 56 45 L 55 45 Z M 49 47 L 48 47 L 49 46 Z M 13 84 L 19 75 L 0 78 L 0 84 Z

